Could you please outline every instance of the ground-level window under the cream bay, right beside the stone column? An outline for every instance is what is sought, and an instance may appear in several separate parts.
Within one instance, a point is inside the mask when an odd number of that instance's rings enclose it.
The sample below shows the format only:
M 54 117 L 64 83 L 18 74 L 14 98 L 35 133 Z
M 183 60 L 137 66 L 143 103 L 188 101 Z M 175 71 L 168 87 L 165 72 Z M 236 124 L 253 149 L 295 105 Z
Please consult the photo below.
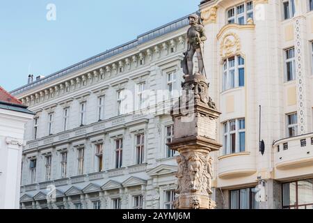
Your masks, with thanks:
M 259 209 L 255 187 L 230 191 L 230 209 Z

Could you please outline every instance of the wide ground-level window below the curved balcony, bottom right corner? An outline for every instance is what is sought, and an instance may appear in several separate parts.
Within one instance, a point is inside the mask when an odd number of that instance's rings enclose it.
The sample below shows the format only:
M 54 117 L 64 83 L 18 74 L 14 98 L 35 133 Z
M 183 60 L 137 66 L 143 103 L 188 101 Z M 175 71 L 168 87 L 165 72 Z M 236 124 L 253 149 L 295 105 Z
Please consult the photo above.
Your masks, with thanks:
M 283 209 L 313 209 L 313 178 L 282 185 Z

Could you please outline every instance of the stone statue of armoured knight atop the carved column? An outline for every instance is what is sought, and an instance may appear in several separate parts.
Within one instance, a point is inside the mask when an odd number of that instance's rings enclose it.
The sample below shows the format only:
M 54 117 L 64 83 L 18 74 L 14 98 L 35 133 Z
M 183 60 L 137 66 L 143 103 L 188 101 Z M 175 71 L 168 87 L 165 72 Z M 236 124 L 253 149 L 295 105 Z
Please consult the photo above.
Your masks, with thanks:
M 191 77 L 193 75 L 193 56 L 197 52 L 198 68 L 200 75 L 205 74 L 203 62 L 203 42 L 207 40 L 204 33 L 204 26 L 200 17 L 196 14 L 191 14 L 188 17 L 191 27 L 187 32 L 187 51 L 184 53 L 184 60 L 182 61 L 182 68 L 184 77 Z M 205 74 L 206 75 L 206 74 Z

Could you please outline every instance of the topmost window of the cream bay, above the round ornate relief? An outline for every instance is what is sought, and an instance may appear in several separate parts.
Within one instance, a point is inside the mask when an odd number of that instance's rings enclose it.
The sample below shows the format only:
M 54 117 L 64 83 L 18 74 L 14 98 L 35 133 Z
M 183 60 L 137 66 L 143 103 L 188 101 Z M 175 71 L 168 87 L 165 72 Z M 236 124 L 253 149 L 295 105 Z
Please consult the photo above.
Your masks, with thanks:
M 246 1 L 228 9 L 226 16 L 228 24 L 247 24 L 249 18 L 253 19 L 253 2 Z

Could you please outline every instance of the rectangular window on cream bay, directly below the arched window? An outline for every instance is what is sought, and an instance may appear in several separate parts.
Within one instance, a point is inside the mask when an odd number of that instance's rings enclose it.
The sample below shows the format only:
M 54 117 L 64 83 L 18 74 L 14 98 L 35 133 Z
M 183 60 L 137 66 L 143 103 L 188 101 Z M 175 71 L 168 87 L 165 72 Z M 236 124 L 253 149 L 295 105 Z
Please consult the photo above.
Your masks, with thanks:
M 224 155 L 246 151 L 246 121 L 245 118 L 223 123 Z

